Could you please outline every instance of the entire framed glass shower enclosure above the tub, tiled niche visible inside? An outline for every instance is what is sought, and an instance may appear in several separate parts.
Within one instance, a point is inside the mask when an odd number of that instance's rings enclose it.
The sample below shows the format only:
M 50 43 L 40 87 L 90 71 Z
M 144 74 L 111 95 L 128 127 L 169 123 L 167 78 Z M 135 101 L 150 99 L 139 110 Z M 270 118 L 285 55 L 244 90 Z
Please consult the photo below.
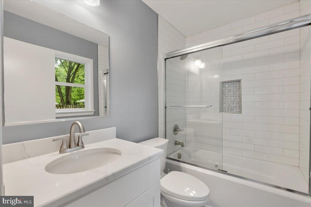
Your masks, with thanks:
M 168 53 L 168 158 L 310 196 L 311 26 L 295 21 Z

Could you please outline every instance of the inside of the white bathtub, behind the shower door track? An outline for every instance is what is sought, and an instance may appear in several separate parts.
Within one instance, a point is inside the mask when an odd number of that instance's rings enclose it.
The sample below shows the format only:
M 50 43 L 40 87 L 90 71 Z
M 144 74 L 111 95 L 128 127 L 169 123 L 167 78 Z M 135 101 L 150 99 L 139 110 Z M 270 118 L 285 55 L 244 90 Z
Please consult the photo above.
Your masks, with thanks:
M 308 193 L 309 191 L 309 185 L 300 169 L 290 165 L 222 154 L 189 146 L 180 148 L 170 154 L 168 158 L 213 170 L 222 169 L 228 174 L 238 175 L 281 188 L 303 193 Z

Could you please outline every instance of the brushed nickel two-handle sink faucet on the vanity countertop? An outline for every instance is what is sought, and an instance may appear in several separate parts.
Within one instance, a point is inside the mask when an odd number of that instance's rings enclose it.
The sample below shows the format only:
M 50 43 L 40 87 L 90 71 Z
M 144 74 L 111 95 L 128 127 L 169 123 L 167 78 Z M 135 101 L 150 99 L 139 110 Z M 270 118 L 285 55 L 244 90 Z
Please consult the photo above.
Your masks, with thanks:
M 75 126 L 78 126 L 79 130 L 80 130 L 79 137 L 78 137 L 78 144 L 76 143 L 76 140 L 74 137 Z M 76 122 L 73 122 L 71 127 L 70 127 L 69 147 L 67 145 L 67 141 L 65 138 L 53 139 L 53 142 L 57 141 L 57 140 L 62 140 L 62 145 L 60 146 L 60 149 L 59 149 L 60 154 L 67 153 L 67 152 L 73 152 L 73 151 L 84 148 L 84 143 L 82 141 L 82 137 L 85 135 L 88 135 L 88 133 L 86 133 L 86 130 L 84 129 L 82 123 L 76 121 Z

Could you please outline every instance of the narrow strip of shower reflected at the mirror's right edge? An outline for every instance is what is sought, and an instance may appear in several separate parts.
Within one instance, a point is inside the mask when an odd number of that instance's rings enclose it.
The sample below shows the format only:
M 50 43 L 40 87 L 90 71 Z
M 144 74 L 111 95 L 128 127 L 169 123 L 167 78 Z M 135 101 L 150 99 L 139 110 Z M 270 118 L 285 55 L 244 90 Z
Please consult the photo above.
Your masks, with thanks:
M 98 98 L 99 115 L 109 115 L 109 52 L 107 47 L 98 45 Z

